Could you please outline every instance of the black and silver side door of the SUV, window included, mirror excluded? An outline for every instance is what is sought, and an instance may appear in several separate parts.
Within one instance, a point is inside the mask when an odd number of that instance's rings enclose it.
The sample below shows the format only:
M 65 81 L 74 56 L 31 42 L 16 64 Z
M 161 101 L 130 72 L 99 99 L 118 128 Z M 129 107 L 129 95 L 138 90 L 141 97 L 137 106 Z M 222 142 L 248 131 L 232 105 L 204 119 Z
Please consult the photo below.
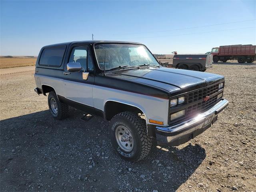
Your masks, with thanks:
M 93 64 L 89 47 L 86 45 L 72 46 L 68 62 L 79 62 L 82 70 L 80 72 L 68 72 L 67 67 L 65 67 L 63 73 L 65 98 L 68 99 L 70 106 L 86 112 L 93 112 L 92 87 L 94 85 L 94 74 L 90 73 L 93 70 Z M 83 78 L 85 74 L 88 75 L 87 79 Z

